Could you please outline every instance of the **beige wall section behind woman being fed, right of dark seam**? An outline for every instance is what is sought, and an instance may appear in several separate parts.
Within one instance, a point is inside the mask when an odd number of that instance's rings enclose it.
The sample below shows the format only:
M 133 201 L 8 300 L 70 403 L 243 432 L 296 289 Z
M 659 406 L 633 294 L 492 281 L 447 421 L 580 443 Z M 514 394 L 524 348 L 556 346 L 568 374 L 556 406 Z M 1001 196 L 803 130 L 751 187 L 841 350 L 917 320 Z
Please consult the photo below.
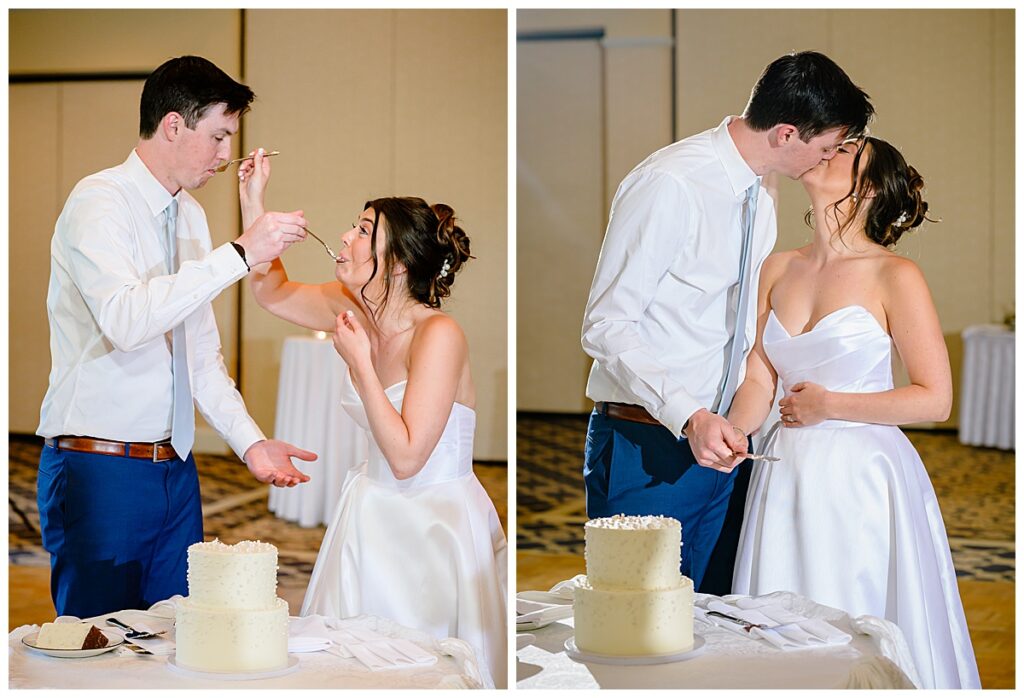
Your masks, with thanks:
M 446 308 L 466 331 L 477 388 L 476 457 L 506 457 L 507 117 L 504 11 L 250 11 L 247 79 L 259 101 L 246 148 L 274 161 L 271 208 L 302 209 L 331 243 L 376 197 L 456 210 L 475 260 Z M 303 50 L 270 50 L 301 45 Z M 335 246 L 337 247 L 337 246 Z M 334 267 L 313 245 L 285 255 L 290 275 Z M 282 340 L 301 330 L 243 302 L 243 387 L 272 421 Z M 257 396 L 253 400 L 249 396 Z

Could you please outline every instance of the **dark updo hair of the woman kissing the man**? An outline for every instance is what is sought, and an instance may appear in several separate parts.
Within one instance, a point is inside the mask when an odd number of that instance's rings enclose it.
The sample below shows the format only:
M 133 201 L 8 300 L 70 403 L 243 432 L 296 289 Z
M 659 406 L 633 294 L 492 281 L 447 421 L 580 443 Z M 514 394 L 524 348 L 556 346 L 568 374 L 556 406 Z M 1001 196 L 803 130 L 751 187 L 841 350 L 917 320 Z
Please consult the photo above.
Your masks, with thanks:
M 863 171 L 860 170 L 861 158 L 867 158 Z M 907 230 L 926 220 L 932 221 L 927 216 L 928 202 L 922 198 L 924 177 L 906 164 L 903 155 L 893 145 L 865 136 L 854 156 L 853 172 L 859 175 L 854 174 L 850 191 L 833 205 L 836 215 L 840 203 L 853 200 L 853 209 L 839 228 L 840 235 L 862 211 L 868 239 L 887 248 L 895 246 Z

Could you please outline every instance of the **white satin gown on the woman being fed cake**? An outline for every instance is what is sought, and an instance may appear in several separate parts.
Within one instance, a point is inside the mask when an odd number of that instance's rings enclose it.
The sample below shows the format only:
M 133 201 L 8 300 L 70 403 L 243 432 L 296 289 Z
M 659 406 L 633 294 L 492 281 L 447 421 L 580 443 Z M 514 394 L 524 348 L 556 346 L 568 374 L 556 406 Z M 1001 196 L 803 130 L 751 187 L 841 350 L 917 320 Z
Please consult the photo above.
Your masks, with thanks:
M 385 393 L 399 411 L 406 383 Z M 507 546 L 473 474 L 476 412 L 456 402 L 423 469 L 396 480 L 370 433 L 346 373 L 345 410 L 370 441 L 368 461 L 342 487 L 301 615 L 388 618 L 476 653 L 485 685 L 507 680 Z

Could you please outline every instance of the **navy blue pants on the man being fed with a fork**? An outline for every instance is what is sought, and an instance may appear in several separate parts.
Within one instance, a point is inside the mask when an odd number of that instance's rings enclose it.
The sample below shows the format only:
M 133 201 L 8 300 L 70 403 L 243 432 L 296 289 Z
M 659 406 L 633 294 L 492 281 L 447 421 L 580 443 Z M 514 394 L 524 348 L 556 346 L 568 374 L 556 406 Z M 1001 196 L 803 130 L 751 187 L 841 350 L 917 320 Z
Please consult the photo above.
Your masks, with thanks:
M 203 540 L 191 454 L 153 463 L 44 446 L 37 499 L 57 614 L 148 608 L 188 593 L 186 550 Z

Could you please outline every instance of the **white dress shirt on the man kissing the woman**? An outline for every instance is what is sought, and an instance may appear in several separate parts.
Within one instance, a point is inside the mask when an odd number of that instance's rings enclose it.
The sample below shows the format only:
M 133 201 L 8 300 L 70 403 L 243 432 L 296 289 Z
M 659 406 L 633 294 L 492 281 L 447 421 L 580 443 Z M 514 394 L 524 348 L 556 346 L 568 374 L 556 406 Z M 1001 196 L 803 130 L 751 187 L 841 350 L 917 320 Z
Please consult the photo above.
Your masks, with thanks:
M 654 152 L 618 185 L 584 316 L 583 348 L 594 358 L 587 396 L 642 405 L 677 435 L 715 403 L 736 321 L 742 205 L 757 175 L 729 135 L 732 119 Z M 775 234 L 761 186 L 744 354 Z

